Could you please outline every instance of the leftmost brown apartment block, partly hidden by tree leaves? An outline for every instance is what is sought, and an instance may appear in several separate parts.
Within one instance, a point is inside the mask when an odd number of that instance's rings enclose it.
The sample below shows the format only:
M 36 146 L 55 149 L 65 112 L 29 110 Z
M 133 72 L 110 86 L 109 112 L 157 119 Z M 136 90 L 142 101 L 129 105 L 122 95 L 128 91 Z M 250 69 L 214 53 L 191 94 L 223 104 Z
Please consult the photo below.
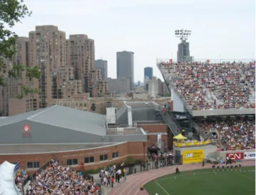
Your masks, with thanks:
M 11 64 L 16 65 L 29 65 L 29 38 L 19 37 L 16 42 L 16 55 L 13 61 L 5 60 L 6 64 L 11 67 Z M 37 110 L 38 95 L 25 95 L 23 93 L 23 86 L 31 88 L 35 86 L 36 80 L 27 80 L 26 71 L 21 72 L 19 78 L 9 78 L 6 75 L 5 86 L 0 87 L 0 112 L 1 115 L 13 115 L 21 112 L 29 112 L 31 110 Z M 18 95 L 23 95 L 23 99 L 18 99 Z M 23 107 L 24 109 L 21 109 Z M 25 111 L 24 111 L 25 110 Z

